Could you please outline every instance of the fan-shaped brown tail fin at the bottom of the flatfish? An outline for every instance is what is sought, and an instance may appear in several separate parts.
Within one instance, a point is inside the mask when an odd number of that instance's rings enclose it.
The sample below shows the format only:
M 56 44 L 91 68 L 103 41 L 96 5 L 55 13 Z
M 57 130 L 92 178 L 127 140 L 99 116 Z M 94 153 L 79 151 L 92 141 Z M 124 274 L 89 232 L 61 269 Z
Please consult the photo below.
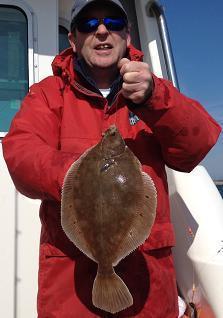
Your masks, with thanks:
M 133 304 L 128 287 L 115 272 L 110 275 L 97 273 L 92 289 L 92 301 L 95 307 L 112 314 Z

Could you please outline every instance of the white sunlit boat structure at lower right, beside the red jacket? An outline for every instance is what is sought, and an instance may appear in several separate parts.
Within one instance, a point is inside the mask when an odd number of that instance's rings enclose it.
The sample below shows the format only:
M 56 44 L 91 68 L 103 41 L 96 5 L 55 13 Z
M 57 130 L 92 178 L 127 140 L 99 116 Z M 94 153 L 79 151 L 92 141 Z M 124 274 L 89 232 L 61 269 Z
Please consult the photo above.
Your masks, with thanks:
M 177 282 L 201 317 L 223 317 L 223 200 L 204 167 L 168 170 Z

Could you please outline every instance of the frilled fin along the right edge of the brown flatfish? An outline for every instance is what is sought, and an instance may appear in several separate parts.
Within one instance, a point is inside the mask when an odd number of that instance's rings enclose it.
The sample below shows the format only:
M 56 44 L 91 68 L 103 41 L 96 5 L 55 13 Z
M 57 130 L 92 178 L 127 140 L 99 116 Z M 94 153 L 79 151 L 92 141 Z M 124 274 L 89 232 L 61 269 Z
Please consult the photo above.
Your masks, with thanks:
M 128 235 L 120 244 L 117 257 L 114 259 L 113 266 L 116 266 L 121 259 L 125 258 L 148 238 L 156 217 L 157 191 L 152 178 L 142 172 L 143 193 L 140 194 L 140 205 L 132 207 L 137 217 L 134 217 Z

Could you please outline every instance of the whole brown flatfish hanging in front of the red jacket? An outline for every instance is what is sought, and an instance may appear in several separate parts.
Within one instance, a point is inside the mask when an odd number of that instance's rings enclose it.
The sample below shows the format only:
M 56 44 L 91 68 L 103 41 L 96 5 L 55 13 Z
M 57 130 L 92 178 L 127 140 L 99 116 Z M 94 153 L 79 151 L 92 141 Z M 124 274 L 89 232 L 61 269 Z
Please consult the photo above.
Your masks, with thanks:
M 94 306 L 116 313 L 133 298 L 114 267 L 149 236 L 156 215 L 155 185 L 115 125 L 68 170 L 61 224 L 68 238 L 98 264 Z

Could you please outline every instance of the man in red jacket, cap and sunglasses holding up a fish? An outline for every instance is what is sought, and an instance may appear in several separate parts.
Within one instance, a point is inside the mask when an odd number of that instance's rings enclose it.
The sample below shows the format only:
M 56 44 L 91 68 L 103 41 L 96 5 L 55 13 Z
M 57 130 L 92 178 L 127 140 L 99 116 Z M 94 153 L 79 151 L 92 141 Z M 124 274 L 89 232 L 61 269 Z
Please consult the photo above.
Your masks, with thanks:
M 17 189 L 42 199 L 39 318 L 178 317 L 171 255 L 165 164 L 189 172 L 215 144 L 218 124 L 196 101 L 153 75 L 130 44 L 128 19 L 117 0 L 77 0 L 70 49 L 53 62 L 54 76 L 31 87 L 3 140 Z M 157 188 L 150 237 L 116 268 L 133 306 L 111 315 L 91 300 L 96 265 L 69 242 L 60 199 L 70 165 L 115 124 Z

